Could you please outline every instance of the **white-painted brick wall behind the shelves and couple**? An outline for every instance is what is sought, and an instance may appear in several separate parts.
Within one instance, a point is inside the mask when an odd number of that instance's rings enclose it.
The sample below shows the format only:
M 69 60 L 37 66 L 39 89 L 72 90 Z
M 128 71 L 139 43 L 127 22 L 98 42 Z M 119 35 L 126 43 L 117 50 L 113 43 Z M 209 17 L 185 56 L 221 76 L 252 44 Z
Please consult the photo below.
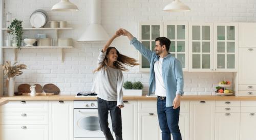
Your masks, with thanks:
M 36 9 L 48 12 L 49 20 L 66 20 L 72 31 L 61 31 L 59 37 L 74 39 L 74 48 L 63 49 L 64 63 L 61 63 L 60 49 L 22 49 L 18 52 L 19 63 L 28 66 L 22 76 L 17 77 L 16 87 L 21 83 L 34 85 L 54 83 L 61 94 L 76 94 L 89 91 L 95 75 L 96 59 L 104 43 L 75 42 L 90 23 L 90 3 L 86 0 L 70 0 L 76 4 L 78 12 L 51 12 L 51 7 L 59 0 L 8 0 L 5 1 L 5 13 L 11 12 L 13 18 L 23 20 L 24 27 L 30 27 L 29 17 Z M 138 36 L 138 22 L 146 20 L 179 21 L 256 21 L 255 0 L 182 0 L 191 8 L 187 13 L 167 13 L 162 9 L 172 0 L 102 0 L 102 25 L 112 35 L 123 27 Z M 47 24 L 49 26 L 49 23 Z M 53 31 L 26 31 L 25 37 L 34 37 L 37 33 L 46 33 L 54 37 Z M 114 41 L 120 52 L 138 59 L 138 53 L 129 45 L 126 37 Z M 12 49 L 4 49 L 4 60 L 13 60 Z M 123 72 L 125 80 L 142 81 L 143 93 L 147 93 L 148 73 L 138 72 L 138 67 Z M 220 80 L 233 80 L 232 73 L 189 73 L 184 72 L 185 94 L 210 95 Z M 6 89 L 5 89 L 6 92 Z

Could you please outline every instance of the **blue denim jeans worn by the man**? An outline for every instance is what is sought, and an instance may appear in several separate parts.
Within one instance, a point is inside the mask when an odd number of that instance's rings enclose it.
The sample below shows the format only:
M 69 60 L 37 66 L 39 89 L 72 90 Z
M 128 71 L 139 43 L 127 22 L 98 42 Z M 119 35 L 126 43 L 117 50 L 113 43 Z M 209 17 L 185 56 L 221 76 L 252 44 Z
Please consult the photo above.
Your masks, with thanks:
M 157 114 L 160 128 L 162 130 L 162 140 L 170 140 L 172 133 L 174 140 L 181 140 L 179 129 L 180 107 L 174 109 L 165 106 L 165 97 L 157 97 Z

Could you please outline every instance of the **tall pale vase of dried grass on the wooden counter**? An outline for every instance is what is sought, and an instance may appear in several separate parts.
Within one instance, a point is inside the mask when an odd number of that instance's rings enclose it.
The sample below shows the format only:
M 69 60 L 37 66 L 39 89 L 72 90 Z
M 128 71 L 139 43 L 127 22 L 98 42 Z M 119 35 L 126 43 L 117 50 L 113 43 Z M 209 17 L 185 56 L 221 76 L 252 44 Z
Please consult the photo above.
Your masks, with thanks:
M 17 65 L 17 62 L 12 65 L 10 61 L 3 65 L 4 75 L 7 76 L 6 87 L 8 87 L 8 96 L 14 96 L 16 76 L 22 75 L 23 72 L 21 70 L 26 68 L 27 66 L 24 64 Z

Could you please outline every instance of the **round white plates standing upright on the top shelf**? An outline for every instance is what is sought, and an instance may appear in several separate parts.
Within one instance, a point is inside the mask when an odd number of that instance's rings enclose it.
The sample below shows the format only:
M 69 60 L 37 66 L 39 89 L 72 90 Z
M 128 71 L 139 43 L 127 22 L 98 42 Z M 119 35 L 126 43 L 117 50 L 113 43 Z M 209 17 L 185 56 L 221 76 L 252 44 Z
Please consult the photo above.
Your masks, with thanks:
M 30 24 L 32 27 L 44 27 L 48 21 L 48 15 L 45 10 L 35 10 L 30 16 Z

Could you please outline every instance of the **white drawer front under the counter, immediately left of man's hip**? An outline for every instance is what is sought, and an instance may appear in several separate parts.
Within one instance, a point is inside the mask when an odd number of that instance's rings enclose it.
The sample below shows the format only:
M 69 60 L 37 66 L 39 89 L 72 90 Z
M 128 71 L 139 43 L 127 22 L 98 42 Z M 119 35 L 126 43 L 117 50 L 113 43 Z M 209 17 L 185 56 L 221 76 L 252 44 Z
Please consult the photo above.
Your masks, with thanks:
M 157 101 L 139 101 L 139 112 L 157 112 Z

